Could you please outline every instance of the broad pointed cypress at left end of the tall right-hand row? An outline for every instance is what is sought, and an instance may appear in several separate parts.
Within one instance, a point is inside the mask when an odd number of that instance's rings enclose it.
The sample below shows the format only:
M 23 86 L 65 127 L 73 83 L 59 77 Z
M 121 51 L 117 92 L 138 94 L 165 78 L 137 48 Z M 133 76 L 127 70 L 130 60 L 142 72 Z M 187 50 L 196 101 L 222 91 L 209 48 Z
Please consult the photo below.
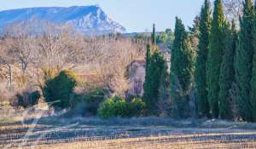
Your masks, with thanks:
M 171 61 L 171 95 L 174 116 L 188 117 L 189 94 L 194 72 L 194 53 L 182 20 L 176 18 Z

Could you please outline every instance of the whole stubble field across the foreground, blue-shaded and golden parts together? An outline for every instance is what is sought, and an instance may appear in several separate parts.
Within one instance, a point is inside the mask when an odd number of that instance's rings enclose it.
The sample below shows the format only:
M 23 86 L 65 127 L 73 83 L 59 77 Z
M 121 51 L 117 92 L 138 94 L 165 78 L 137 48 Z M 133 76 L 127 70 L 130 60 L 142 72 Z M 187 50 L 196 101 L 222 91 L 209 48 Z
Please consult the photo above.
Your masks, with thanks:
M 109 121 L 47 117 L 2 123 L 0 148 L 256 148 L 254 127 L 249 123 L 177 122 L 157 117 Z

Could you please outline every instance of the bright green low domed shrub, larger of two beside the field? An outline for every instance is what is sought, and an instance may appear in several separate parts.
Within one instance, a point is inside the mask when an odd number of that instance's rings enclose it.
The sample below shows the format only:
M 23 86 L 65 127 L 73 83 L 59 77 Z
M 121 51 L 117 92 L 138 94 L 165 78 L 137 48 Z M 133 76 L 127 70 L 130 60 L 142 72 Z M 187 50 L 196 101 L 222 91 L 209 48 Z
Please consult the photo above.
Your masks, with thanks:
M 124 99 L 119 96 L 113 96 L 113 98 L 105 100 L 102 103 L 98 109 L 98 114 L 102 118 L 130 117 L 131 107 Z

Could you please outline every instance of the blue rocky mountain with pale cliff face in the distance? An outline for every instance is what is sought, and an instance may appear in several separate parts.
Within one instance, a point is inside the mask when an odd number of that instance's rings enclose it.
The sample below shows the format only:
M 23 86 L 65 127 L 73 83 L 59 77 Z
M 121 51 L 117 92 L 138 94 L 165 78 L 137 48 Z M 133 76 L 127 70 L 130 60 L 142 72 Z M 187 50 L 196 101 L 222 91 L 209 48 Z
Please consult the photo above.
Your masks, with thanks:
M 125 32 L 125 27 L 111 20 L 99 6 L 41 7 L 0 11 L 2 29 L 11 24 L 31 22 L 31 20 L 72 25 L 74 29 L 84 34 Z M 35 23 L 37 22 L 40 21 Z

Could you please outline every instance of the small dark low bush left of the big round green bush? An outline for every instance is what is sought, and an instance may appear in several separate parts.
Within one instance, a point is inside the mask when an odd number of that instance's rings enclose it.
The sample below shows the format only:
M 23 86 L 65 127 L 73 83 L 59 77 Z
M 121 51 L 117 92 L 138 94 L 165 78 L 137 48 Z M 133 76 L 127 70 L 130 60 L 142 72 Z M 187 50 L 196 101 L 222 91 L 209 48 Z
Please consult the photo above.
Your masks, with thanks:
M 38 104 L 38 100 L 40 99 L 40 92 L 23 92 L 15 95 L 15 106 L 22 106 L 23 108 L 32 107 Z

